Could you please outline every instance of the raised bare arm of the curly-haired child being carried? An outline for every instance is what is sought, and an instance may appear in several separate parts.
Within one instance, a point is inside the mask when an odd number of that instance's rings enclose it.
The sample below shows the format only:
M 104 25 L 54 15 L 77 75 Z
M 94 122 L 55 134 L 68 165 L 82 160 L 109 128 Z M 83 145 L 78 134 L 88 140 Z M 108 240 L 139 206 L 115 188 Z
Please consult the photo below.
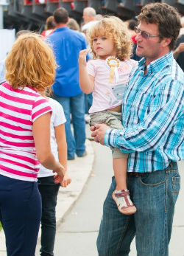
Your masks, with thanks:
M 86 55 L 88 49 L 79 52 L 79 85 L 85 94 L 90 94 L 94 88 L 94 77 L 88 75 L 86 69 Z

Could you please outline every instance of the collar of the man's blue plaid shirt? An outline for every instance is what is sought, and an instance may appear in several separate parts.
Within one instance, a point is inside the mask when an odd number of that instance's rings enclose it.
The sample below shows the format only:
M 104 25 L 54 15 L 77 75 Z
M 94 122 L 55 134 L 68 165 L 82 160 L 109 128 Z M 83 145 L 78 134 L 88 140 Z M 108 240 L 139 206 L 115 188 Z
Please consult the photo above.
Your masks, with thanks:
M 167 53 L 166 55 L 163 55 L 162 57 L 158 58 L 157 60 L 153 60 L 149 65 L 147 66 L 148 72 L 159 72 L 160 69 L 162 69 L 166 65 L 171 65 L 173 60 L 173 54 L 172 52 Z M 138 62 L 138 69 L 144 70 L 146 64 L 146 58 L 141 58 Z

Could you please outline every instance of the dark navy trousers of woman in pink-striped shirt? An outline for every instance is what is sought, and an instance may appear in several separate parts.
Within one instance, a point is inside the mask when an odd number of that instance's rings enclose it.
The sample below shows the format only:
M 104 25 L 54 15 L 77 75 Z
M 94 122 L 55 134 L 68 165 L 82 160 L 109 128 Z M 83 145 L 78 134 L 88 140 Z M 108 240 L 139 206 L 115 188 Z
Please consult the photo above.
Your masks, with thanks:
M 0 175 L 0 221 L 8 256 L 34 256 L 41 218 L 41 199 L 35 181 Z

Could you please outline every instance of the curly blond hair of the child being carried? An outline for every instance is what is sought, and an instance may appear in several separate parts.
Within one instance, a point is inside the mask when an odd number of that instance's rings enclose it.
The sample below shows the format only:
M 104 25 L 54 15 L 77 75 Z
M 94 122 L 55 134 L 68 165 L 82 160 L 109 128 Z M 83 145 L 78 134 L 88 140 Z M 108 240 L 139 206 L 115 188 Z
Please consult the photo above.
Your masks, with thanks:
M 99 58 L 93 50 L 93 38 L 105 36 L 113 39 L 116 57 L 123 61 L 132 55 L 132 40 L 127 26 L 116 16 L 105 16 L 88 30 L 87 37 L 93 58 Z

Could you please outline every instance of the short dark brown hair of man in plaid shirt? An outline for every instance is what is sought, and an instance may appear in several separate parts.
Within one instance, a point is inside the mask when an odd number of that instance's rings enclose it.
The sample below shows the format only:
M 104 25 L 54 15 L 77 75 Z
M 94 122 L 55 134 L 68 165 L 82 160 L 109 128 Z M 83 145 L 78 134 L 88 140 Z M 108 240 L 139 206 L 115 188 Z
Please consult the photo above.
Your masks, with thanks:
M 180 15 L 166 3 L 146 4 L 138 15 L 138 21 L 158 24 L 160 39 L 171 38 L 169 49 L 174 49 L 180 32 Z

